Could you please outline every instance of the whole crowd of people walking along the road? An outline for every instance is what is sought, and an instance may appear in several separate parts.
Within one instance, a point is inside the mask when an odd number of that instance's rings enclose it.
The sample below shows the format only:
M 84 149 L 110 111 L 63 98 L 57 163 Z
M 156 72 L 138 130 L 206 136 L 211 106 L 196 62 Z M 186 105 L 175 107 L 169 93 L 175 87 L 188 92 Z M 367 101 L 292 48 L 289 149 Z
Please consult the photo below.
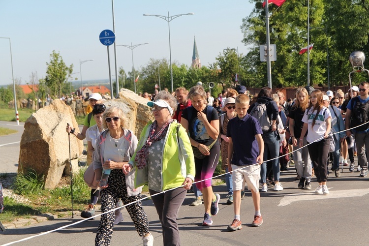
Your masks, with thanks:
M 106 108 L 96 93 L 89 98 L 92 117 L 86 116 L 82 132 L 66 127 L 78 139 L 88 140 L 91 165 L 85 180 L 92 188 L 91 203 L 81 216 L 94 215 L 99 197 L 102 213 L 129 204 L 125 208 L 143 245 L 153 245 L 154 238 L 140 201 L 142 186 L 149 187 L 164 245 L 180 245 L 177 216 L 189 190 L 195 195 L 190 206 L 204 204 L 203 226 L 212 225 L 219 212 L 220 195 L 212 188 L 219 160 L 225 171 L 226 203 L 234 206 L 230 231 L 242 229 L 245 184 L 254 205 L 252 226 L 261 226 L 259 192 L 283 190 L 280 172 L 292 164 L 297 188 L 316 186 L 314 193 L 323 195 L 329 195 L 329 171 L 339 178 L 340 165 L 349 166 L 350 172 L 356 168 L 360 177 L 368 174 L 368 82 L 346 94 L 298 88 L 288 100 L 268 87 L 251 97 L 245 86 L 214 98 L 199 85 L 175 93 L 155 90 L 147 99 L 154 121 L 138 138 L 124 128 L 123 111 Z M 121 221 L 120 209 L 102 215 L 95 245 L 110 245 L 113 227 Z

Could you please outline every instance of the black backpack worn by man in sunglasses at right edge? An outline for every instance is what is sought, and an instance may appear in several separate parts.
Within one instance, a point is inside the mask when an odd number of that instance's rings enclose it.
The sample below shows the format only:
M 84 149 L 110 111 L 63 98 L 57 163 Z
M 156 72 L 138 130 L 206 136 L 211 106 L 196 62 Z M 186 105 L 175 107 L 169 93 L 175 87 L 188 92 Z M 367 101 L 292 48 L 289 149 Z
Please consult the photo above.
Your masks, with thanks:
M 356 102 L 355 106 L 354 103 Z M 357 128 L 355 128 L 356 131 L 365 131 L 369 128 L 369 101 L 366 103 L 362 103 L 359 100 L 359 97 L 354 97 L 351 100 L 351 122 L 350 122 L 350 128 L 356 127 L 358 125 L 361 125 Z

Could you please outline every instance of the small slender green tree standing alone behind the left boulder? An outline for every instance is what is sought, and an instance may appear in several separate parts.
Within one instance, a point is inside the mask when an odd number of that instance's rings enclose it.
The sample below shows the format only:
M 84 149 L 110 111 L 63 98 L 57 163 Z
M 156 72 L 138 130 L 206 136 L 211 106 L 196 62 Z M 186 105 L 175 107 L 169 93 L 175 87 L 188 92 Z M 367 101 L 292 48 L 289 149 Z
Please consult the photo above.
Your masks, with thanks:
M 67 82 L 67 78 L 73 72 L 73 64 L 69 67 L 65 65 L 62 56 L 53 50 L 50 55 L 50 62 L 46 62 L 46 78 L 45 84 L 51 90 L 51 93 L 55 96 L 61 97 L 62 87 Z

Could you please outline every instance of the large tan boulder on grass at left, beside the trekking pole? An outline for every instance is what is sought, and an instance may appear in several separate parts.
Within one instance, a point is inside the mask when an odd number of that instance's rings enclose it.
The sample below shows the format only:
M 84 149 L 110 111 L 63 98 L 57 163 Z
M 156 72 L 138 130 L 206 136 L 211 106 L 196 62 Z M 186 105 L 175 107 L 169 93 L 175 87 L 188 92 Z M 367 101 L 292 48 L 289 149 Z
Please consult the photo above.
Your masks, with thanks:
M 33 169 L 37 174 L 44 175 L 45 188 L 55 188 L 63 173 L 69 174 L 69 142 L 65 132 L 67 123 L 79 131 L 72 109 L 61 100 L 54 100 L 28 118 L 21 139 L 19 173 Z M 72 168 L 76 171 L 83 143 L 72 135 L 70 151 Z

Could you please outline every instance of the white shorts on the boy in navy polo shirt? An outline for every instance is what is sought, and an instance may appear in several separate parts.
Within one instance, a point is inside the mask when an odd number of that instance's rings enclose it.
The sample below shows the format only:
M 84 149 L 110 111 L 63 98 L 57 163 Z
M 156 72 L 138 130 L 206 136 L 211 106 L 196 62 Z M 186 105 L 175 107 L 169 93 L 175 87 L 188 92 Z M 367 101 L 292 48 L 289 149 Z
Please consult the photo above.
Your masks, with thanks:
M 242 168 L 242 169 L 241 169 Z M 232 164 L 233 190 L 243 190 L 246 181 L 248 190 L 259 192 L 260 165 L 236 166 Z

